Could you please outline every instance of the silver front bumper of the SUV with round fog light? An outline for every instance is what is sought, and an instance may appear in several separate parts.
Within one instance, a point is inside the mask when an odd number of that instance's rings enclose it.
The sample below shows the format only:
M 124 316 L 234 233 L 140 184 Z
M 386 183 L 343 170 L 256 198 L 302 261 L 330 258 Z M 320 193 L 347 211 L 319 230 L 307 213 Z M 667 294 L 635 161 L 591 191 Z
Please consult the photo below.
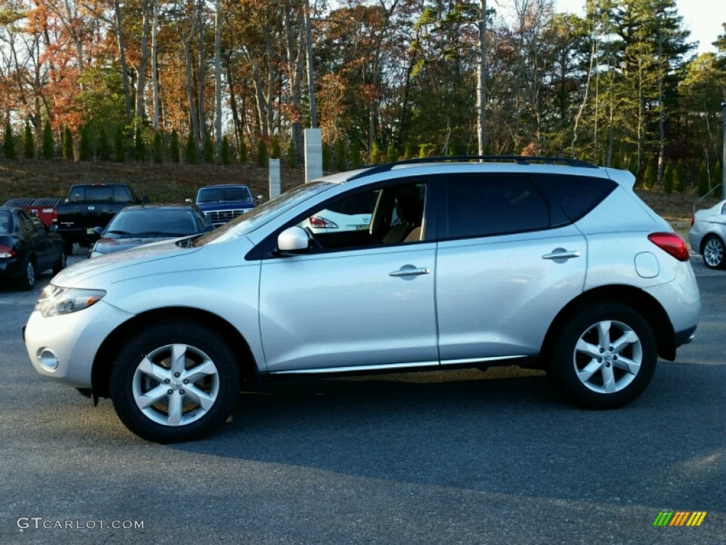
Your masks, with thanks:
M 103 300 L 52 318 L 43 318 L 34 310 L 23 328 L 25 349 L 39 374 L 76 388 L 91 388 L 91 371 L 99 347 L 115 328 L 132 317 Z

